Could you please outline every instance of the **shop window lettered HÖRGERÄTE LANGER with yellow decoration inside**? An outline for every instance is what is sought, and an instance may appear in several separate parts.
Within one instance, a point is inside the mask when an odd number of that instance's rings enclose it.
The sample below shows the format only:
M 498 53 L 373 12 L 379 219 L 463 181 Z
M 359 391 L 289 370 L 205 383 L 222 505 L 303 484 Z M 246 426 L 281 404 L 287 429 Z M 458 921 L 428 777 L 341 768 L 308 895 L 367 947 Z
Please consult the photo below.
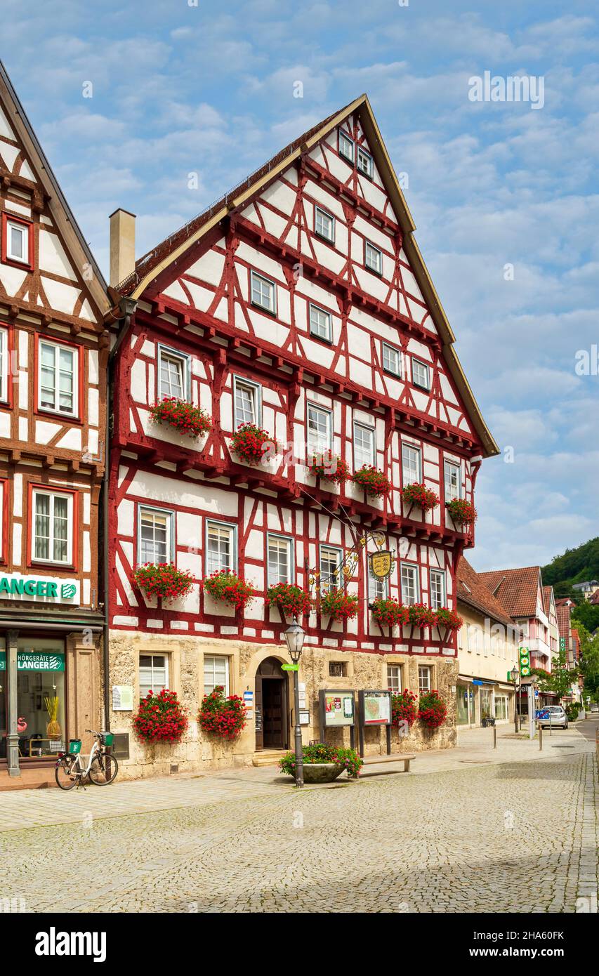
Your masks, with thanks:
M 36 637 L 19 640 L 17 714 L 22 758 L 43 759 L 65 749 L 64 668 L 64 643 L 61 640 Z

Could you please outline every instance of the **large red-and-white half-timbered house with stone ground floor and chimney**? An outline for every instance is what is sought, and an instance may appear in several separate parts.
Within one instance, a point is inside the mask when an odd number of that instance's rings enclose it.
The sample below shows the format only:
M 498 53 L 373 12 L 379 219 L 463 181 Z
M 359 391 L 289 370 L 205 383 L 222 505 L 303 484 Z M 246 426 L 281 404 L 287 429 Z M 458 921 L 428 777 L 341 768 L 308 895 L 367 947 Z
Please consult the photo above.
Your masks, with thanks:
M 115 218 L 120 268 L 132 222 Z M 300 665 L 306 742 L 319 736 L 325 687 L 440 689 L 450 718 L 434 743 L 455 741 L 455 632 L 389 630 L 371 609 L 385 597 L 455 609 L 456 566 L 473 529 L 462 531 L 445 502 L 473 502 L 480 464 L 498 452 L 414 229 L 364 96 L 132 262 L 120 283 L 137 307 L 115 355 L 110 674 L 136 697 L 168 686 L 189 707 L 187 740 L 161 747 L 160 768 L 249 762 L 289 746 L 289 619 L 265 599 L 278 583 L 314 598 Z M 202 407 L 210 429 L 191 437 L 156 423 L 151 407 L 165 397 Z M 258 466 L 232 450 L 246 424 L 276 441 Z M 350 474 L 376 468 L 390 492 L 376 498 L 350 478 L 312 474 L 306 466 L 321 452 Z M 413 483 L 440 504 L 422 514 L 402 500 Z M 395 554 L 385 581 L 368 569 L 375 530 Z M 191 590 L 171 603 L 148 598 L 135 582 L 146 562 L 188 571 Z M 257 591 L 243 612 L 203 587 L 220 570 Z M 323 609 L 335 588 L 358 598 L 345 622 Z M 238 743 L 221 751 L 194 722 L 217 684 L 246 693 L 252 707 Z M 130 729 L 124 712 L 112 728 Z M 367 748 L 378 736 L 370 732 Z M 129 770 L 140 775 L 154 756 L 132 749 Z

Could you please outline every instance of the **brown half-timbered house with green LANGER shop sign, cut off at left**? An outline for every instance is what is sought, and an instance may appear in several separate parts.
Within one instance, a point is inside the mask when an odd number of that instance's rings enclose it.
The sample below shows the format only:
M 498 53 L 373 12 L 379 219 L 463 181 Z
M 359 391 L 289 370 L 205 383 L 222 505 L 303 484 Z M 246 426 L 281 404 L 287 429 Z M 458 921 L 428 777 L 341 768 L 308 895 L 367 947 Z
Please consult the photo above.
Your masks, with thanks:
M 100 722 L 109 303 L 0 64 L 0 788 Z

